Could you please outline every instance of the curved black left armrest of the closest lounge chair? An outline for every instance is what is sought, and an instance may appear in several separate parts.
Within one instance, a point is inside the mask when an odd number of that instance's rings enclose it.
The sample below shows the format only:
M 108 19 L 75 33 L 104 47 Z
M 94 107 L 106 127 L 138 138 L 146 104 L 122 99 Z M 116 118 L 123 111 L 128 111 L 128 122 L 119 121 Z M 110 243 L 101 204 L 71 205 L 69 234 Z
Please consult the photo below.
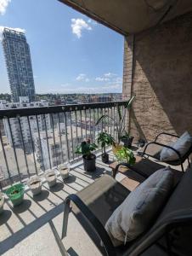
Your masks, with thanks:
M 103 224 L 100 223 L 99 219 L 93 214 L 92 211 L 86 206 L 86 204 L 80 199 L 78 195 L 71 194 L 68 195 L 65 199 L 65 205 L 70 205 L 70 202 L 73 202 L 76 207 L 82 212 L 82 215 L 88 220 L 88 224 L 93 230 L 96 231 L 97 235 L 103 241 L 104 248 L 108 255 L 115 256 L 115 249 L 112 242 L 110 241 L 110 236 L 107 231 L 104 229 Z

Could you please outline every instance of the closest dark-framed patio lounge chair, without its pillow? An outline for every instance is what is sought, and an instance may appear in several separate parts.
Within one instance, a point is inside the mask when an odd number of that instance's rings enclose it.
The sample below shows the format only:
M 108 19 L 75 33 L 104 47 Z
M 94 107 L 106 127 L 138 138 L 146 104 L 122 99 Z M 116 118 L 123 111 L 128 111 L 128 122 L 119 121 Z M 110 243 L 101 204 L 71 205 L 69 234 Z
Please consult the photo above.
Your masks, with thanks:
M 73 212 L 102 255 L 192 255 L 191 171 L 184 173 L 150 229 L 120 247 L 113 246 L 104 224 L 130 191 L 109 175 L 100 177 L 66 198 L 62 238 L 66 236 L 69 212 Z

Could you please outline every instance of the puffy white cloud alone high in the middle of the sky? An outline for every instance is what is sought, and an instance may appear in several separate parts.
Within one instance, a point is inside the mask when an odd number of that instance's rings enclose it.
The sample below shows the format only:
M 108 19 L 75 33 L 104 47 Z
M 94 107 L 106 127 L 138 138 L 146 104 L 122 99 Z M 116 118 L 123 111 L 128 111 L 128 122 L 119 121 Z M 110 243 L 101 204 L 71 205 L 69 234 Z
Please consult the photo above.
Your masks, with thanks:
M 82 30 L 92 30 L 92 27 L 89 24 L 82 19 L 71 19 L 72 32 L 76 35 L 77 38 L 81 38 Z

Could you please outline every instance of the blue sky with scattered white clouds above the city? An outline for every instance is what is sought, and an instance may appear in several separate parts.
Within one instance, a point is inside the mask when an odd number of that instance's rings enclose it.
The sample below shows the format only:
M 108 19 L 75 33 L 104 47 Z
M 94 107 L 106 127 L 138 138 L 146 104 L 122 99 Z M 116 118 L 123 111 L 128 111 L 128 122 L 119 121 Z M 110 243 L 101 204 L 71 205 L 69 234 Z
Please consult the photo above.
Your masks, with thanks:
M 4 26 L 25 32 L 37 93 L 121 92 L 123 37 L 110 28 L 58 0 L 0 0 L 0 34 Z M 0 93 L 6 92 L 0 42 Z

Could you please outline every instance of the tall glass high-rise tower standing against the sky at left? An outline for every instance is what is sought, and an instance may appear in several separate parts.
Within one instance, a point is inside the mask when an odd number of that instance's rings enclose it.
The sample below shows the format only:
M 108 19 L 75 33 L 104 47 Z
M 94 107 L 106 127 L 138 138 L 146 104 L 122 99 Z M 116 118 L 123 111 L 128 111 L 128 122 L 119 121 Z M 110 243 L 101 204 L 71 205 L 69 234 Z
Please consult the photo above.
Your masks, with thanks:
M 2 44 L 13 101 L 19 102 L 20 96 L 28 96 L 30 102 L 34 102 L 35 85 L 30 47 L 25 34 L 4 28 Z

